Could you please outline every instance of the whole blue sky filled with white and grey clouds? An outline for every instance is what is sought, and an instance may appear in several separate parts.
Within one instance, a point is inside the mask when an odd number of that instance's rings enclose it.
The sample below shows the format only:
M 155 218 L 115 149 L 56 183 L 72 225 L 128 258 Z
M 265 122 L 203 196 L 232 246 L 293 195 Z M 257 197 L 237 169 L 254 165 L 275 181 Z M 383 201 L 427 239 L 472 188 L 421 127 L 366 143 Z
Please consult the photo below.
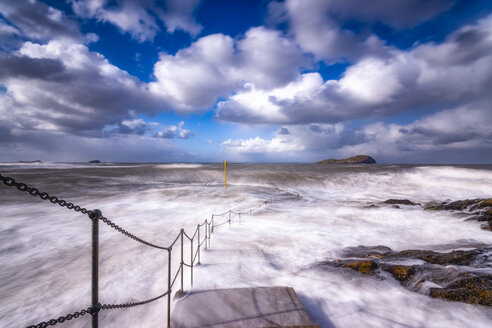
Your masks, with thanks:
M 0 161 L 492 163 L 490 0 L 2 0 Z

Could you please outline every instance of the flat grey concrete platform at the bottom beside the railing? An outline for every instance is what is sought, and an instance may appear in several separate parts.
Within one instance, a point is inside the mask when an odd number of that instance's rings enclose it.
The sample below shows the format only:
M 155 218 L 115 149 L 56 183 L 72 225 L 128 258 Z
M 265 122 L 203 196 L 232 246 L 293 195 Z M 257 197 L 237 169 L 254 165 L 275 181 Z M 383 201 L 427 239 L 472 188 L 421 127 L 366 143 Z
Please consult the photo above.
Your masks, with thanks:
M 198 290 L 175 300 L 173 328 L 319 327 L 291 287 Z

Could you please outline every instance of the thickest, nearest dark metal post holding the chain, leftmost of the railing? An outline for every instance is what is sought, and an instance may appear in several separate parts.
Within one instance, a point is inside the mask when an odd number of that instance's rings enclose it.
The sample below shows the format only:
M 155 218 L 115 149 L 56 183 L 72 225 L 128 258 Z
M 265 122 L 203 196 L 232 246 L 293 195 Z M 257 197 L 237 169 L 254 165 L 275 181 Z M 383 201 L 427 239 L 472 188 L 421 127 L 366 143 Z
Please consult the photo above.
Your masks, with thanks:
M 102 217 L 100 210 L 93 210 L 90 216 L 92 221 L 92 328 L 99 324 L 99 219 Z

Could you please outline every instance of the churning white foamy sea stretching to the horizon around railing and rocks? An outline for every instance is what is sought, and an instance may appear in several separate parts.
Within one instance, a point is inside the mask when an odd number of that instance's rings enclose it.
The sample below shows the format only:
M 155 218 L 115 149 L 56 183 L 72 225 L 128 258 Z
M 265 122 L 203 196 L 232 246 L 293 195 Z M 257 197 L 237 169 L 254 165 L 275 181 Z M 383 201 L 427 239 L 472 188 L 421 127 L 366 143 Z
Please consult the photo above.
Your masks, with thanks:
M 227 188 L 219 164 L 2 163 L 0 173 L 159 245 L 213 213 L 263 204 L 214 229 L 194 289 L 291 286 L 321 327 L 492 322 L 492 212 L 477 201 L 492 197 L 492 165 L 230 164 Z M 0 206 L 0 326 L 90 306 L 87 215 L 4 184 Z M 166 291 L 166 251 L 99 230 L 101 303 Z M 166 309 L 162 298 L 101 311 L 100 326 L 163 327 Z M 90 327 L 90 315 L 57 326 Z

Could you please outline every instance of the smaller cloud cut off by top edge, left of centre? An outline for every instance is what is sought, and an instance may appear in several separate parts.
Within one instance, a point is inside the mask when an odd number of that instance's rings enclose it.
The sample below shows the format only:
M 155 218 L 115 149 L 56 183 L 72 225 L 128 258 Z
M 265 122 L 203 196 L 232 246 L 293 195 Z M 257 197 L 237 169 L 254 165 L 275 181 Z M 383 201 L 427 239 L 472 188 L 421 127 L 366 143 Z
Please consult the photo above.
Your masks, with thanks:
M 196 23 L 192 14 L 199 0 L 166 0 L 166 9 L 156 0 L 71 0 L 74 12 L 84 18 L 95 18 L 116 25 L 121 31 L 130 33 L 143 42 L 153 40 L 160 31 L 159 22 L 166 25 L 172 33 L 177 29 L 192 35 L 198 34 L 202 27 Z

